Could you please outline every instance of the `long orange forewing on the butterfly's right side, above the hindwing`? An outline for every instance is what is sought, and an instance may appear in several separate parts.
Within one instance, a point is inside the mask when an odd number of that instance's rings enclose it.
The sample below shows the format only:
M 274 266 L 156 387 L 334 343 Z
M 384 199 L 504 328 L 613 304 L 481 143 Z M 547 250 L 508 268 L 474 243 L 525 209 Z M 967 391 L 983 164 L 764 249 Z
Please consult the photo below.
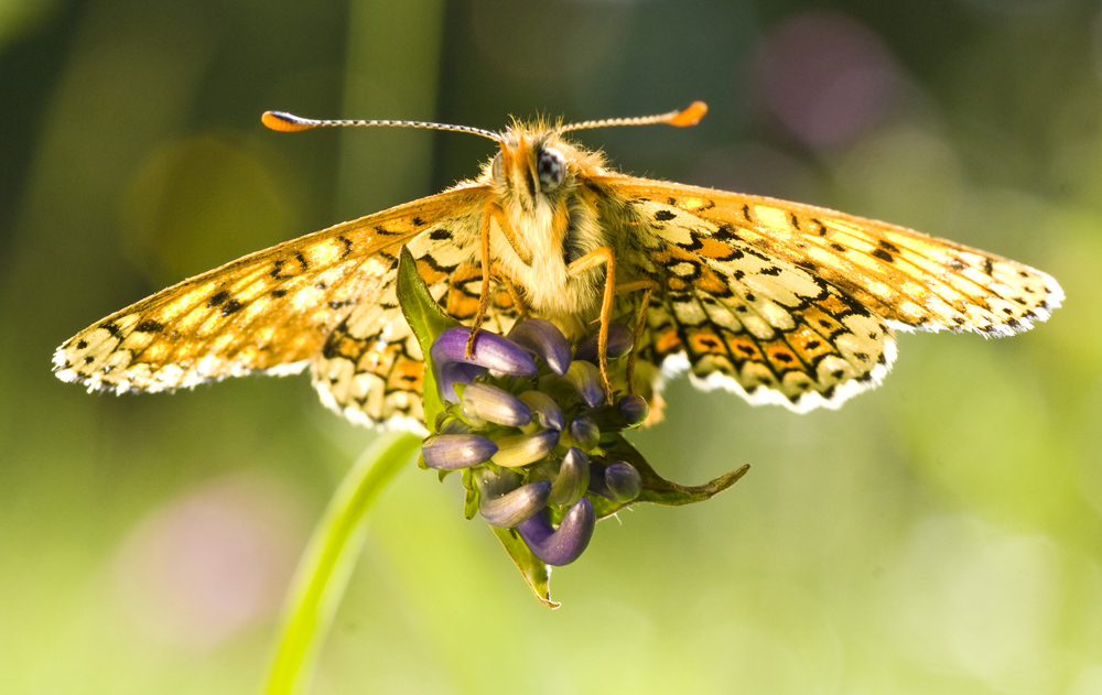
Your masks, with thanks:
M 991 253 L 834 210 L 709 188 L 629 180 L 629 198 L 715 224 L 724 237 L 841 289 L 896 327 L 1011 335 L 1063 293 L 1049 275 Z

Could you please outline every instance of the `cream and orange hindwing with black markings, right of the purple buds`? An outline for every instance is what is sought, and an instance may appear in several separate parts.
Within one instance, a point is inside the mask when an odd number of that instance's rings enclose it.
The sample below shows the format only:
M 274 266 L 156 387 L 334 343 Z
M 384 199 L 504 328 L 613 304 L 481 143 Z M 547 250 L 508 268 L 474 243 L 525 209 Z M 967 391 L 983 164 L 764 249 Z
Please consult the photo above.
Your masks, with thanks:
M 650 220 L 629 228 L 660 286 L 640 358 L 798 412 L 838 406 L 887 373 L 892 329 L 838 287 L 669 204 L 629 208 Z

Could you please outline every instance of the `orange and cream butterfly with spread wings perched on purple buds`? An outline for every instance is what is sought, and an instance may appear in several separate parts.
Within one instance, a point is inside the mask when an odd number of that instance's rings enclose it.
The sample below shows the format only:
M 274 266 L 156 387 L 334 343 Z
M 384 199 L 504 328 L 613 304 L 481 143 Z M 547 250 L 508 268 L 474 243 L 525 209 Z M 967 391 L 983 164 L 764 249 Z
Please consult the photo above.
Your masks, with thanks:
M 797 412 L 838 408 L 880 382 L 897 330 L 1008 336 L 1046 319 L 1049 275 L 984 251 L 810 205 L 627 176 L 568 133 L 695 124 L 706 107 L 503 132 L 401 126 L 498 145 L 480 175 L 443 193 L 246 256 L 78 333 L 57 377 L 89 390 L 171 391 L 310 368 L 322 401 L 358 423 L 423 419 L 421 351 L 396 295 L 407 247 L 453 317 L 507 333 L 540 316 L 577 339 L 635 326 L 636 382 L 688 370 L 704 388 Z

